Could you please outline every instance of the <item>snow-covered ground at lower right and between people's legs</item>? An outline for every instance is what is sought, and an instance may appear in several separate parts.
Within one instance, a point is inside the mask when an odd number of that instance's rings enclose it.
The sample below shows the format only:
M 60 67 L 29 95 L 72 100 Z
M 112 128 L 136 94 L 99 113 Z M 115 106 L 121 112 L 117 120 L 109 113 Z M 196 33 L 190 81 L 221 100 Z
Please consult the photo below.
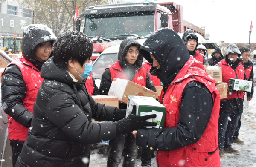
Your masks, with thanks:
M 254 90 L 256 90 L 256 86 L 254 86 Z M 239 139 L 244 141 L 244 145 L 234 143 L 232 147 L 239 150 L 240 155 L 226 153 L 226 158 L 221 159 L 221 167 L 256 167 L 256 93 L 251 101 L 247 101 L 247 98 L 244 100 Z M 92 154 L 89 167 L 106 167 L 107 159 L 106 154 Z M 157 167 L 155 158 L 151 163 L 151 167 Z M 140 164 L 140 159 L 137 159 L 135 167 L 141 167 Z M 119 167 L 122 167 L 122 162 Z

